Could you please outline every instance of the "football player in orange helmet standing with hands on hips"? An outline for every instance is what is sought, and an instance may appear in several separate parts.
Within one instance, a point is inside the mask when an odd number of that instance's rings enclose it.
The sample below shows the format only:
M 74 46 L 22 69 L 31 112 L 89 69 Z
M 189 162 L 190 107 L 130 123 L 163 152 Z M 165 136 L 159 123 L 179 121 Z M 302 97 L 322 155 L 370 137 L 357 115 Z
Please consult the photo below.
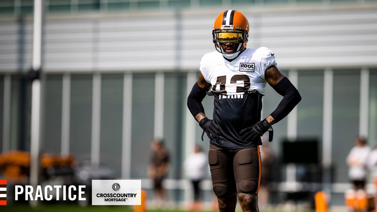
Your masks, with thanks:
M 266 47 L 246 48 L 249 22 L 239 11 L 222 12 L 213 25 L 216 51 L 200 61 L 200 74 L 187 106 L 210 138 L 208 163 L 213 191 L 221 212 L 234 212 L 237 197 L 242 211 L 259 211 L 261 136 L 282 120 L 301 100 L 293 84 L 276 68 L 275 54 Z M 261 121 L 266 84 L 284 98 Z M 202 100 L 214 96 L 213 120 L 206 117 Z M 202 134 L 202 136 L 203 136 Z

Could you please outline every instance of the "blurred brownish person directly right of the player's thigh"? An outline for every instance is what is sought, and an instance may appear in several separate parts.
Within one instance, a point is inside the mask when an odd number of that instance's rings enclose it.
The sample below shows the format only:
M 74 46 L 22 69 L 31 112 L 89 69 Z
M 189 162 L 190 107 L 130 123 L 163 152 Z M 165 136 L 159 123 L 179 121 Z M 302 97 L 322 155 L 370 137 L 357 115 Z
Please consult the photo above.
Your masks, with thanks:
M 261 187 L 259 188 L 258 204 L 261 208 L 268 206 L 268 189 L 270 187 L 270 171 L 274 161 L 274 154 L 268 143 L 263 143 L 261 148 Z

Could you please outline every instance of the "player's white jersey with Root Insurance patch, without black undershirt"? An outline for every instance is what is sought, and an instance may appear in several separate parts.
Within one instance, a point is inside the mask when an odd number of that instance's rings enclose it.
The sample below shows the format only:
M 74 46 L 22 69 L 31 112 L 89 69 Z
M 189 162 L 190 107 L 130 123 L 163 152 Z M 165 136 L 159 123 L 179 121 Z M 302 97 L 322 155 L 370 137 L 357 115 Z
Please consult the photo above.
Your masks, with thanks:
M 260 47 L 245 49 L 231 62 L 225 60 L 218 51 L 210 52 L 202 57 L 200 71 L 217 94 L 236 95 L 256 90 L 264 95 L 267 83 L 264 72 L 272 65 L 276 66 L 274 53 L 266 47 Z

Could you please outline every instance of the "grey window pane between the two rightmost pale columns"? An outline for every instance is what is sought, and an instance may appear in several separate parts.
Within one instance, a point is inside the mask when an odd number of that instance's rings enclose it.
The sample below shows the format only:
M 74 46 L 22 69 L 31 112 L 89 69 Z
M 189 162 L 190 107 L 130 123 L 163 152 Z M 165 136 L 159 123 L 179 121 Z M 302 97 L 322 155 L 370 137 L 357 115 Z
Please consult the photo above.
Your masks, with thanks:
M 359 135 L 360 70 L 334 71 L 332 162 L 337 183 L 348 182 L 346 157 Z

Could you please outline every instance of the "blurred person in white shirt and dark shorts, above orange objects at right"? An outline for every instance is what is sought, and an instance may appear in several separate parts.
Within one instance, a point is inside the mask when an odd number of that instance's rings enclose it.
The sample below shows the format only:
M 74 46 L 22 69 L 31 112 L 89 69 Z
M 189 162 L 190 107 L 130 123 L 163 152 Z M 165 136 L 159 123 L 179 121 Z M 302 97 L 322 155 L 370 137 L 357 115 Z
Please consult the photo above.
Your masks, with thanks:
M 364 138 L 355 138 L 355 146 L 352 147 L 347 156 L 347 164 L 349 166 L 348 177 L 354 186 L 354 190 L 365 190 L 367 159 L 370 152 L 371 148 L 366 145 Z

